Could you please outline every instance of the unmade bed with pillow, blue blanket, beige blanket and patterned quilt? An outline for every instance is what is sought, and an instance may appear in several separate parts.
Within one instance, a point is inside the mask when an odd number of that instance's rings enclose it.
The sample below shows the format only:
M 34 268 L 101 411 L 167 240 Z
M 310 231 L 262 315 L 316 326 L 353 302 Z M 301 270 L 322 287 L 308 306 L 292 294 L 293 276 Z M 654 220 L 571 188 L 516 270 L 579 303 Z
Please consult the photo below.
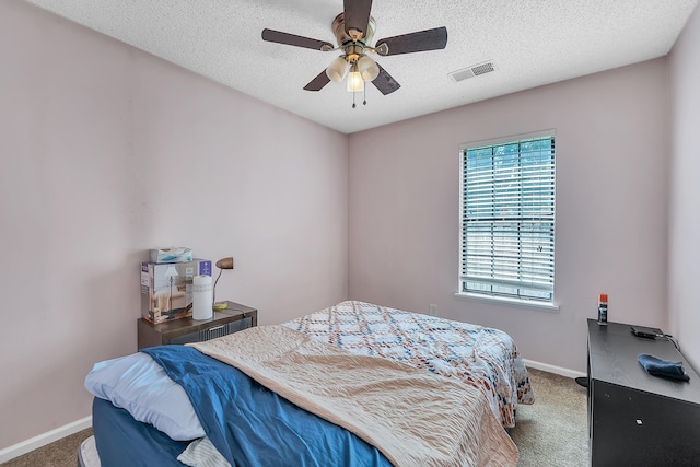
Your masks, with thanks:
M 514 466 L 504 429 L 534 402 L 508 334 L 357 301 L 101 362 L 85 387 L 105 467 Z

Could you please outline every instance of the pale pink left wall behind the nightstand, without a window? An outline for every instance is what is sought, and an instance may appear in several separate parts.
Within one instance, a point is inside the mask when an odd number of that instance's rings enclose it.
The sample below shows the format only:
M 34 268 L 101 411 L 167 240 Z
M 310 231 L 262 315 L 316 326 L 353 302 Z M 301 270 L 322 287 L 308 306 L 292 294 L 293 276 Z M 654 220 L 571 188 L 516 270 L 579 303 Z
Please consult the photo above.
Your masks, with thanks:
M 148 248 L 233 255 L 261 324 L 347 297 L 346 136 L 16 0 L 0 63 L 0 450 L 90 415 Z

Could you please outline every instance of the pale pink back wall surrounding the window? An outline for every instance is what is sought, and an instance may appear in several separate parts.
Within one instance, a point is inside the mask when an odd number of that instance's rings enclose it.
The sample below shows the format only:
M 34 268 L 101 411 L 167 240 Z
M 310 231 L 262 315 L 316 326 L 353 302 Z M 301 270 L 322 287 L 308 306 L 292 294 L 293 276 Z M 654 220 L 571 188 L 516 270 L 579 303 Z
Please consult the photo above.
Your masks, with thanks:
M 351 135 L 349 295 L 436 304 L 581 372 L 599 292 L 611 320 L 665 327 L 667 90 L 657 59 Z M 551 128 L 559 312 L 456 299 L 459 144 Z

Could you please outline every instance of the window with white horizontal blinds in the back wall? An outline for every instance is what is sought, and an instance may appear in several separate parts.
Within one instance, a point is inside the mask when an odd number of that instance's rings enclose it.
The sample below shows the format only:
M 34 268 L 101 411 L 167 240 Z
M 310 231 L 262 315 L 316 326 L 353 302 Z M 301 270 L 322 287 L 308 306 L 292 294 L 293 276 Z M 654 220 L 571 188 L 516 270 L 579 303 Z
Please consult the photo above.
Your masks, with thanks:
M 553 132 L 460 152 L 462 292 L 551 303 Z

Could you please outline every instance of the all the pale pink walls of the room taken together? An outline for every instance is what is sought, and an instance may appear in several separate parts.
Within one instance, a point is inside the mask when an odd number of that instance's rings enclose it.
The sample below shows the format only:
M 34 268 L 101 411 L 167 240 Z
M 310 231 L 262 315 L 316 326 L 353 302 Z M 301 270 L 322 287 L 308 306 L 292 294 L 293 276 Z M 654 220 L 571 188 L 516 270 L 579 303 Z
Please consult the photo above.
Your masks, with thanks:
M 508 330 L 526 359 L 584 371 L 605 291 L 611 319 L 677 334 L 697 366 L 699 34 L 696 12 L 670 67 L 346 137 L 1 1 L 0 450 L 90 415 L 83 378 L 136 350 L 138 265 L 159 245 L 233 255 L 218 295 L 258 307 L 261 324 L 348 296 L 434 303 Z M 455 299 L 459 144 L 548 128 L 559 312 Z

